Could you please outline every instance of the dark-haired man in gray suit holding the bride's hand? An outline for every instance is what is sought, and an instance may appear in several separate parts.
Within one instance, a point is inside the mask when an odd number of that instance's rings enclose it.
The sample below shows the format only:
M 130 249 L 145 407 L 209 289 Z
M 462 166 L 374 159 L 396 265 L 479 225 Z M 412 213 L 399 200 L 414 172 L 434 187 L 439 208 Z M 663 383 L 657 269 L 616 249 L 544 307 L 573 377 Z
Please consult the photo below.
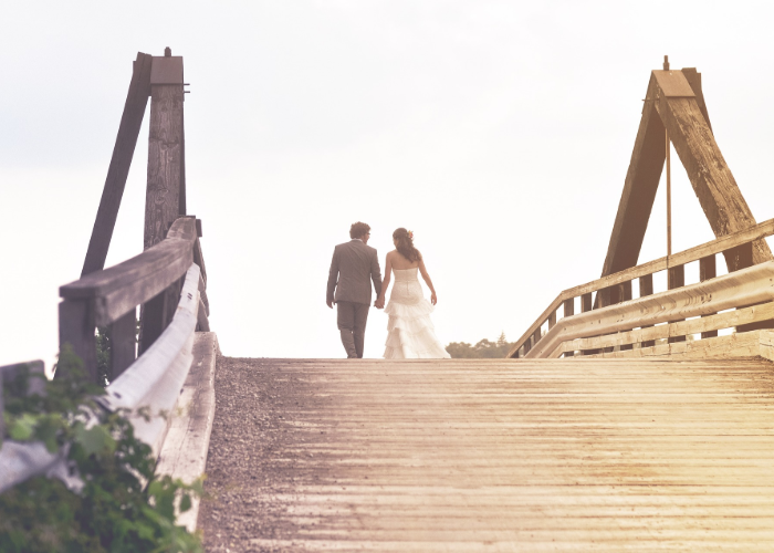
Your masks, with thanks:
M 370 227 L 356 222 L 349 228 L 351 241 L 339 243 L 333 251 L 328 289 L 325 302 L 328 307 L 338 305 L 338 330 L 342 343 L 351 359 L 363 358 L 366 320 L 370 307 L 370 282 L 376 296 L 381 292 L 381 271 L 376 248 L 367 246 Z M 335 295 L 334 295 L 335 290 Z

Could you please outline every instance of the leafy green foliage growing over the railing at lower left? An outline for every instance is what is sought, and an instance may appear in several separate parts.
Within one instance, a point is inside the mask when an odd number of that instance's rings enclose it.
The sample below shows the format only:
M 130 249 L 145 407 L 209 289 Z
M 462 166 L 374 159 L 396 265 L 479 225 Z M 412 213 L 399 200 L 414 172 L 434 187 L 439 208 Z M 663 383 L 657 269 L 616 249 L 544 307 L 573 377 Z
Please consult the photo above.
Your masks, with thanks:
M 44 396 L 25 394 L 36 375 L 3 383 L 6 434 L 42 440 L 51 451 L 67 446 L 85 486 L 74 493 L 60 480 L 38 477 L 0 494 L 0 551 L 201 552 L 199 535 L 175 525 L 175 501 L 180 512 L 190 509 L 201 481 L 156 477 L 150 448 L 135 438 L 128 413 L 105 414 L 94 405 L 90 397 L 104 389 L 87 383 L 72 351 L 62 351 L 59 367 L 65 376 L 46 382 Z M 96 424 L 86 422 L 91 409 Z

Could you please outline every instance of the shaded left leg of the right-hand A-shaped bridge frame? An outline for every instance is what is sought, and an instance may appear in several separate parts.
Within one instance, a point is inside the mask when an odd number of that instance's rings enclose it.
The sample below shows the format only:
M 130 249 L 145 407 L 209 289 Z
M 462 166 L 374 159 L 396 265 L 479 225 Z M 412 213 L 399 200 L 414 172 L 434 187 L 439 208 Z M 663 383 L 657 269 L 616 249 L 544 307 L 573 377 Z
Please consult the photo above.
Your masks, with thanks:
M 656 190 L 661 179 L 666 150 L 663 125 L 653 107 L 655 84 L 648 85 L 642 118 L 640 119 L 629 169 L 624 181 L 624 192 L 610 233 L 602 275 L 606 276 L 637 264 L 653 208 Z

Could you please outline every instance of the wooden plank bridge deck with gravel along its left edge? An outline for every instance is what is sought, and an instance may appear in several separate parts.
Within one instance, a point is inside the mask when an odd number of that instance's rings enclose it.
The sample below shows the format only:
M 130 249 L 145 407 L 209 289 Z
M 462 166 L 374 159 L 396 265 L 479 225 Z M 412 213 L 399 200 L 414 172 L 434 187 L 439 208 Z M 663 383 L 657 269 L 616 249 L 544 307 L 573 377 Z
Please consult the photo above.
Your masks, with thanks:
M 220 358 L 208 551 L 774 551 L 766 361 Z

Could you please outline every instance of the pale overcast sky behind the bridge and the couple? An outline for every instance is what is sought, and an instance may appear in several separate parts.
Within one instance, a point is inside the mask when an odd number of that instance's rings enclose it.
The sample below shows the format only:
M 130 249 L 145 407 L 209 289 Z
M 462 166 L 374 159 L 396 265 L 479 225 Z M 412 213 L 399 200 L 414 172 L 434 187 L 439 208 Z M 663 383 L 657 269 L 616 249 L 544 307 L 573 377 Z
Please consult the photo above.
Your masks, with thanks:
M 4 1 L 0 364 L 57 348 L 138 51 L 182 55 L 189 212 L 231 356 L 341 357 L 325 283 L 356 220 L 415 231 L 443 343 L 515 340 L 599 276 L 649 72 L 695 66 L 774 217 L 770 2 Z M 108 264 L 142 251 L 147 119 Z M 677 156 L 673 250 L 713 238 Z M 640 261 L 666 253 L 660 187 Z M 690 272 L 689 272 L 690 280 Z M 387 317 L 372 310 L 366 356 Z

